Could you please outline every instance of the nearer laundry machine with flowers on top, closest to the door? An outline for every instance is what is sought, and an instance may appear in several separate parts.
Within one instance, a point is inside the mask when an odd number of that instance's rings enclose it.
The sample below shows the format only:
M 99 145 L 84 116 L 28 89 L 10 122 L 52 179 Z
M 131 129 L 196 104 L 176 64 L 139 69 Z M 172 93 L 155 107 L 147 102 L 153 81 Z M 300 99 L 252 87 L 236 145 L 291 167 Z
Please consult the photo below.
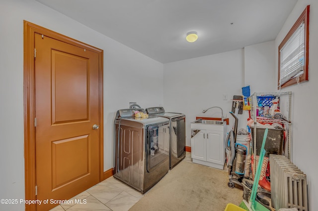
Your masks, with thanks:
M 153 187 L 169 171 L 169 119 L 135 118 L 143 108 L 120 109 L 114 119 L 114 177 L 140 191 Z

